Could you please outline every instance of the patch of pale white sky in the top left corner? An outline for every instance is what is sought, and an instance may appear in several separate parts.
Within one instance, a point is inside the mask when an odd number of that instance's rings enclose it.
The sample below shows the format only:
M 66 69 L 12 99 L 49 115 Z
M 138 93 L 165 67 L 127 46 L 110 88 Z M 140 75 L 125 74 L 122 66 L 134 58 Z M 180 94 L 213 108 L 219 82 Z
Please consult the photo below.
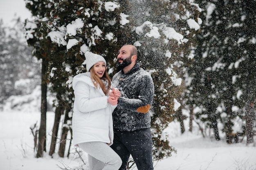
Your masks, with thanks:
M 11 25 L 11 20 L 18 16 L 22 20 L 31 17 L 25 0 L 0 0 L 0 18 L 4 24 Z

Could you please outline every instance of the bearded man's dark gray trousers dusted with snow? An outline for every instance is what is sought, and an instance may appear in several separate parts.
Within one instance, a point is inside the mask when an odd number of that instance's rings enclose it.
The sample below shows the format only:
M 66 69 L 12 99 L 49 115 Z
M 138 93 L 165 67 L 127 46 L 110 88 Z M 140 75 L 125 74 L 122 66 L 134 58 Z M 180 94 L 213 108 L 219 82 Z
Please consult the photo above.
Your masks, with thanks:
M 119 170 L 126 170 L 130 155 L 132 155 L 138 170 L 154 169 L 150 128 L 135 131 L 117 131 L 114 129 L 114 144 L 110 147 L 122 159 Z

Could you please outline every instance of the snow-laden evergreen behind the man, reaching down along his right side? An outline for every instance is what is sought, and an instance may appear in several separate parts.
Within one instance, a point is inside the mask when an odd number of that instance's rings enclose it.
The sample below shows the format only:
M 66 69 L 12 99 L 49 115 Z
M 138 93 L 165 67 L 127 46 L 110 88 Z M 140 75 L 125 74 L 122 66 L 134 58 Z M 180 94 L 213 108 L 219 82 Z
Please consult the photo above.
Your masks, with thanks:
M 198 18 L 200 8 L 186 0 L 119 2 L 132 26 L 124 44 L 137 46 L 141 67 L 153 78 L 153 156 L 155 160 L 162 159 L 175 151 L 162 132 L 180 106 L 182 70 L 193 59 L 195 34 L 201 23 Z

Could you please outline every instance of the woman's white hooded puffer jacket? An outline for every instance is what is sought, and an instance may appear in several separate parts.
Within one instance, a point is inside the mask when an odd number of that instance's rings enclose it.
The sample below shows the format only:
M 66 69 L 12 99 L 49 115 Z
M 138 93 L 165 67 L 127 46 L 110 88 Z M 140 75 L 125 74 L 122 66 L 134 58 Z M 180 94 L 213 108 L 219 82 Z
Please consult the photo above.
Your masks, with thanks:
M 111 84 L 112 86 L 112 84 Z M 113 143 L 112 112 L 117 107 L 108 103 L 101 88 L 95 88 L 90 72 L 73 78 L 74 113 L 72 117 L 73 144 L 83 142 Z

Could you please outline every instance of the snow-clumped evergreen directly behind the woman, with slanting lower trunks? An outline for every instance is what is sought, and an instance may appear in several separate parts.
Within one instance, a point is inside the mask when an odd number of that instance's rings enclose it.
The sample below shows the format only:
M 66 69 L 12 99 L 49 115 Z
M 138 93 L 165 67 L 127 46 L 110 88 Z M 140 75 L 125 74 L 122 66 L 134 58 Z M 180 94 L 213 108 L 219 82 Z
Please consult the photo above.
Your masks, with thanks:
M 34 35 L 38 36 L 42 56 L 47 59 L 45 77 L 49 87 L 56 95 L 54 102 L 55 123 L 52 134 L 52 144 L 49 154 L 55 150 L 58 134 L 58 124 L 61 115 L 64 116 L 61 144 L 58 154 L 63 157 L 67 133 L 71 130 L 71 114 L 73 91 L 71 88 L 72 77 L 82 71 L 84 53 L 90 51 L 101 54 L 113 66 L 113 53 L 118 51 L 117 36 L 122 23 L 119 14 L 119 5 L 113 2 L 98 0 L 84 1 L 52 1 L 39 6 L 49 7 L 43 17 L 38 18 L 38 24 L 29 27 L 27 39 L 31 41 Z M 37 5 L 38 6 L 38 5 Z M 36 7 L 37 7 L 36 6 Z M 35 21 L 35 20 L 34 20 Z M 35 32 L 30 31 L 35 30 Z M 31 33 L 31 34 L 30 34 Z M 112 64 L 111 64 L 112 63 Z M 110 68 L 111 70 L 111 68 Z

